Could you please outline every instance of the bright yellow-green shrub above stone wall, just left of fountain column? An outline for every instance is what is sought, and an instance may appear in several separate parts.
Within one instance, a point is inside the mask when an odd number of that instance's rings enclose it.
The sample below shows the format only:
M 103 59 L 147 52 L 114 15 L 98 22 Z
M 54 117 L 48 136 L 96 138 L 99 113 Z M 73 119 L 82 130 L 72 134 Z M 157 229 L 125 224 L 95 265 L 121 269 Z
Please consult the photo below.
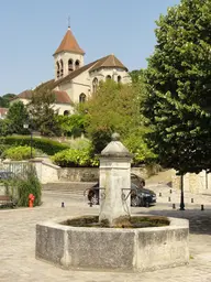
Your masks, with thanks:
M 62 167 L 86 167 L 86 166 L 98 166 L 99 160 L 92 156 L 92 150 L 86 148 L 82 150 L 68 149 L 56 153 L 52 158 L 53 162 Z

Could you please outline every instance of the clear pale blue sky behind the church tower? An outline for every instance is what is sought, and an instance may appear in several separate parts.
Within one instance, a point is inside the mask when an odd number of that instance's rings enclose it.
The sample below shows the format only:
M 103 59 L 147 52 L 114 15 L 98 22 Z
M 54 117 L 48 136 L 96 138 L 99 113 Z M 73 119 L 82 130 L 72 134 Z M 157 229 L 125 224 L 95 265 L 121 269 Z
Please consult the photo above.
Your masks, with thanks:
M 70 28 L 85 63 L 114 54 L 129 70 L 145 68 L 155 21 L 180 0 L 0 0 L 0 96 L 54 78 L 53 54 Z

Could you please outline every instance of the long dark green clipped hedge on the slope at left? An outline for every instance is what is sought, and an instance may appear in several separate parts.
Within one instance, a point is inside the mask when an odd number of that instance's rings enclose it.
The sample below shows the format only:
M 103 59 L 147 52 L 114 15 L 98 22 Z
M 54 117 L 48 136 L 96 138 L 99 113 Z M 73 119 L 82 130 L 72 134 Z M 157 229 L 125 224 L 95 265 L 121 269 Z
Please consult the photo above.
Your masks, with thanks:
M 12 145 L 12 147 L 30 145 L 31 138 L 24 137 L 24 135 L 4 137 L 4 138 L 0 138 L 0 144 L 1 143 L 4 145 Z M 54 155 L 63 150 L 69 149 L 68 144 L 59 143 L 57 141 L 54 141 L 47 138 L 36 138 L 36 137 L 33 137 L 32 147 L 41 150 L 42 152 L 48 155 Z

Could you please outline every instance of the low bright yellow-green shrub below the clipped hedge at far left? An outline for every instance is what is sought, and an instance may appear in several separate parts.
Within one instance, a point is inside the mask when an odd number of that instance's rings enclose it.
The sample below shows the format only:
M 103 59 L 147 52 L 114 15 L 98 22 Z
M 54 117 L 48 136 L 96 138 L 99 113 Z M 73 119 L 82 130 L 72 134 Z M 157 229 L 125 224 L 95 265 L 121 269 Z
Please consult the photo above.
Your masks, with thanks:
M 35 150 L 32 149 L 32 158 L 35 156 Z M 11 147 L 4 151 L 4 158 L 13 161 L 22 161 L 31 159 L 31 148 L 27 145 Z

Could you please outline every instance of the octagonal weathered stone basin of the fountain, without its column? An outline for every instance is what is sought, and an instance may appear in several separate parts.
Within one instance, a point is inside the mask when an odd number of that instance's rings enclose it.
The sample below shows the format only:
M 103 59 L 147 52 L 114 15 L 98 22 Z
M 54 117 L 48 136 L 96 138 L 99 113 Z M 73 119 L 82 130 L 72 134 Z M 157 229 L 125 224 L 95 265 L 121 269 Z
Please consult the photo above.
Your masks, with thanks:
M 95 228 L 62 225 L 67 218 L 36 225 L 37 259 L 64 269 L 151 271 L 189 261 L 189 221 L 169 226 Z

